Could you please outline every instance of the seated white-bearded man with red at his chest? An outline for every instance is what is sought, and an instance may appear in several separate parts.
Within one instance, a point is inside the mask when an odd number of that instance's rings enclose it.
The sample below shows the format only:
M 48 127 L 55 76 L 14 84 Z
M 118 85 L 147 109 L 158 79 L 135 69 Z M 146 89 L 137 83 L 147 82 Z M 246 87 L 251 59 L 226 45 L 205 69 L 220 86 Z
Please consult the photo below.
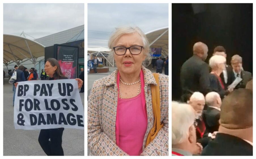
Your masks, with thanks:
M 205 99 L 204 95 L 200 92 L 194 92 L 189 100 L 189 105 L 191 105 L 195 110 L 196 115 L 196 122 L 197 122 L 197 128 L 196 128 L 196 134 L 197 134 L 197 142 L 201 143 L 203 147 L 205 147 L 209 141 L 212 140 L 211 137 L 208 137 L 208 134 L 205 134 L 206 127 L 204 122 L 204 105 L 205 105 Z

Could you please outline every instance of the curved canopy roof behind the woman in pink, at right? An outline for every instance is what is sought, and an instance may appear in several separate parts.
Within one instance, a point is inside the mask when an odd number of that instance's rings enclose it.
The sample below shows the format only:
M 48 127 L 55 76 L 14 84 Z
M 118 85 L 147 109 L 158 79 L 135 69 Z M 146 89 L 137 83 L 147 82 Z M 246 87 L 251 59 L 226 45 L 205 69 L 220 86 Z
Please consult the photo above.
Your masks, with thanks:
M 162 48 L 162 55 L 166 56 L 169 44 L 169 27 L 159 28 L 146 33 L 151 48 Z

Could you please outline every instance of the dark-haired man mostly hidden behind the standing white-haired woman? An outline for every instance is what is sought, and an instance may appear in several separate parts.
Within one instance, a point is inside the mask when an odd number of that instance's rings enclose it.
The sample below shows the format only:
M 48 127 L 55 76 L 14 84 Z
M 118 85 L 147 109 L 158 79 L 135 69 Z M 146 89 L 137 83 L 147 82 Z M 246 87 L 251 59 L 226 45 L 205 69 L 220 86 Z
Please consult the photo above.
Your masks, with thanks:
M 221 55 L 227 58 L 226 50 L 223 46 L 217 46 L 214 48 L 213 55 Z M 224 89 L 227 90 L 228 86 L 232 83 L 232 67 L 226 64 L 226 69 L 220 74 L 221 81 L 224 84 Z

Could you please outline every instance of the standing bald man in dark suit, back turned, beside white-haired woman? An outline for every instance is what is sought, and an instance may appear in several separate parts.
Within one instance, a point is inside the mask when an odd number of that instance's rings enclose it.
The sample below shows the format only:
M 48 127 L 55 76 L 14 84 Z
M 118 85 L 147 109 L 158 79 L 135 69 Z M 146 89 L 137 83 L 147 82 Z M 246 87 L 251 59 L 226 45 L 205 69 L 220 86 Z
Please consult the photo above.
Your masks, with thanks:
M 193 56 L 182 65 L 180 83 L 182 101 L 186 102 L 188 94 L 202 92 L 206 95 L 210 90 L 209 66 L 204 61 L 208 56 L 208 47 L 202 42 L 193 46 Z

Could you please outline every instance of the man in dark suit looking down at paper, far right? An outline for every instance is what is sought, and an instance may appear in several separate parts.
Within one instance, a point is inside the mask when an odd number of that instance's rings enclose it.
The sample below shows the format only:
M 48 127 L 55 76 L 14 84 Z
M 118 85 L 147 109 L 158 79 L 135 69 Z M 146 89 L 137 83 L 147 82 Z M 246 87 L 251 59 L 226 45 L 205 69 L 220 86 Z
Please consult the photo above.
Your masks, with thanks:
M 239 55 L 234 55 L 231 58 L 231 66 L 233 68 L 232 74 L 232 82 L 237 78 L 240 77 L 243 80 L 235 87 L 238 88 L 245 88 L 248 81 L 252 79 L 251 72 L 242 70 L 242 57 Z

